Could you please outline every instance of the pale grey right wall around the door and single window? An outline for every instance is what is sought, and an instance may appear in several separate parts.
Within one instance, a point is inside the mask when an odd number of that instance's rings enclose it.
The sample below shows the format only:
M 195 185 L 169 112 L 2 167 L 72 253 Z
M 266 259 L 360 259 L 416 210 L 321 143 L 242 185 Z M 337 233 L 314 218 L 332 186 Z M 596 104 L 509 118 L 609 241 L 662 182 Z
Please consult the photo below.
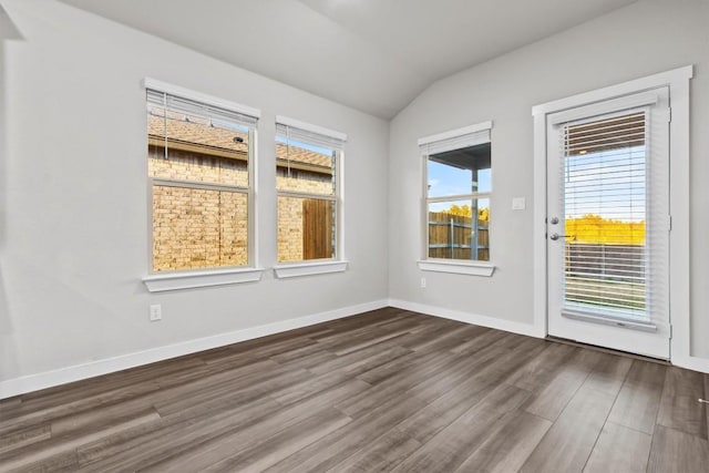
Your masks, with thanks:
M 695 64 L 691 83 L 691 325 L 709 358 L 709 2 L 644 0 L 430 86 L 391 123 L 390 296 L 439 312 L 533 323 L 532 106 Z M 422 163 L 417 138 L 492 120 L 492 278 L 422 273 Z M 512 198 L 526 197 L 524 212 Z M 425 276 L 428 287 L 420 288 Z M 522 325 L 522 326 L 518 326 Z

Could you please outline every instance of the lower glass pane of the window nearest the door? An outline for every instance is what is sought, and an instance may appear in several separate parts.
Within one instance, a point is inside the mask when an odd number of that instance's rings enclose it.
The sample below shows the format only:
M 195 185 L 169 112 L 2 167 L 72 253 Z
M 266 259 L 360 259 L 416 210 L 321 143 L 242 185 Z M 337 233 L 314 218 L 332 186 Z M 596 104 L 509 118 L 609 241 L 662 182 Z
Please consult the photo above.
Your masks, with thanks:
M 428 216 L 429 258 L 490 260 L 490 199 L 429 203 Z

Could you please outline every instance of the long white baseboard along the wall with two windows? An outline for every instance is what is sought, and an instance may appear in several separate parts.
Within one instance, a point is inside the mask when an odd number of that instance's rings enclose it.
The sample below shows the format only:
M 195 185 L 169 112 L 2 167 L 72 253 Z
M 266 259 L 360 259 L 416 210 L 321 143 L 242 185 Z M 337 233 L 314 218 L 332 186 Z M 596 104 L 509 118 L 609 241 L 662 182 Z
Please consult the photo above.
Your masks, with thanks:
M 340 309 L 329 310 L 311 316 L 282 320 L 264 326 L 236 330 L 228 333 L 219 333 L 212 337 L 188 340 L 181 343 L 168 345 L 165 347 L 152 348 L 150 350 L 122 354 L 104 360 L 91 361 L 83 364 L 75 364 L 72 367 L 45 371 L 42 373 L 13 378 L 0 381 L 0 399 L 11 398 L 13 395 L 32 391 L 39 391 L 41 389 L 52 388 L 60 384 L 66 384 L 69 382 L 80 381 L 83 379 L 107 374 L 129 368 L 135 368 L 143 364 L 154 363 L 156 361 L 182 357 L 183 354 L 189 354 L 198 351 L 209 350 L 213 348 L 224 347 L 244 340 L 250 340 L 254 338 L 294 330 L 320 322 L 327 322 L 329 320 L 341 319 L 343 317 L 367 312 L 369 310 L 381 309 L 383 307 L 387 307 L 389 301 L 386 299 L 376 300 L 372 302 L 343 307 Z

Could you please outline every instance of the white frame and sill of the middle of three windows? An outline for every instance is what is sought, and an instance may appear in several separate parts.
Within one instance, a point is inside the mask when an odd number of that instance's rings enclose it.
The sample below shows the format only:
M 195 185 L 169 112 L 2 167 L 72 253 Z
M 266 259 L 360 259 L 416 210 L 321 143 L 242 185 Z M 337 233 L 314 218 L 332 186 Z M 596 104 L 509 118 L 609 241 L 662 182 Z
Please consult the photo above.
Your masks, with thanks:
M 278 279 L 285 278 L 294 278 L 301 276 L 311 276 L 311 275 L 321 275 L 329 273 L 342 273 L 347 270 L 348 261 L 345 258 L 345 204 L 343 204 L 343 162 L 345 162 L 345 150 L 343 144 L 347 142 L 347 134 L 342 132 L 338 132 L 335 130 L 326 128 L 323 126 L 314 125 L 311 123 L 306 123 L 296 119 L 290 119 L 288 116 L 277 115 L 276 116 L 276 126 L 285 125 L 292 128 L 298 128 L 299 131 L 314 133 L 317 135 L 321 135 L 326 138 L 331 138 L 336 142 L 341 142 L 342 145 L 335 150 L 335 193 L 333 195 L 322 195 L 322 194 L 310 194 L 302 192 L 294 192 L 294 191 L 278 191 L 276 189 L 276 206 L 278 206 L 278 197 L 300 197 L 300 198 L 318 198 L 318 199 L 327 199 L 335 203 L 335 257 L 333 258 L 322 258 L 322 259 L 307 259 L 302 261 L 292 261 L 292 263 L 279 263 L 274 266 L 274 275 Z M 274 137 L 274 145 L 276 145 L 276 137 Z M 276 207 L 276 213 L 278 213 L 278 208 Z M 278 233 L 278 222 L 276 222 L 276 233 Z M 276 249 L 276 254 L 278 254 L 278 249 Z

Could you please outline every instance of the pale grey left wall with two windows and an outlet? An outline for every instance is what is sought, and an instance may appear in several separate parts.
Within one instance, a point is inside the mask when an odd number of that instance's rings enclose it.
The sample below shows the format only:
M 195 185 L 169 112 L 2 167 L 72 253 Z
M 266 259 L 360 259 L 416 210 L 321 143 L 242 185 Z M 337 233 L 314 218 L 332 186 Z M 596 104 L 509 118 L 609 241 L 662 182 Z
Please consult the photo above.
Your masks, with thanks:
M 0 387 L 386 300 L 387 122 L 53 0 L 2 6 L 23 39 L 0 54 Z M 276 263 L 275 115 L 346 132 L 349 270 L 148 294 L 145 76 L 261 110 L 266 268 Z M 162 304 L 161 322 L 148 322 L 151 304 Z

